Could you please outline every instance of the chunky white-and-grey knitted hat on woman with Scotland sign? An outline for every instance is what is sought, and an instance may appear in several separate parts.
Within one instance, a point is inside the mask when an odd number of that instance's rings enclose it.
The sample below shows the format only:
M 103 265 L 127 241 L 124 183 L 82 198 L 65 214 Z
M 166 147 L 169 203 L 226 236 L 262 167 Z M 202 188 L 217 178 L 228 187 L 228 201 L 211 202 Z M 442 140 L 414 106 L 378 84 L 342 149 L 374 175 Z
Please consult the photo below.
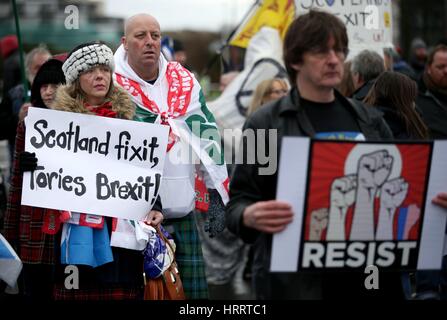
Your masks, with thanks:
M 105 44 L 90 42 L 74 48 L 68 54 L 62 70 L 67 84 L 72 84 L 81 73 L 99 65 L 108 66 L 113 72 L 115 67 L 113 52 Z

